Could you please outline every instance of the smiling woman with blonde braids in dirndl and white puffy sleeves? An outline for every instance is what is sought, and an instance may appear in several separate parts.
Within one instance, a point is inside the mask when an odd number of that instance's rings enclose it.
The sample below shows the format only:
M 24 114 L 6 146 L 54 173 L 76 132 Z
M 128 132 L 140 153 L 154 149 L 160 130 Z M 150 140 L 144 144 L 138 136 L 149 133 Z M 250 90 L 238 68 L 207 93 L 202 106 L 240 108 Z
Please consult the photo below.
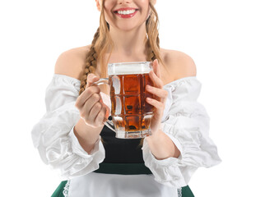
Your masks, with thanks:
M 91 45 L 72 48 L 56 62 L 46 89 L 46 114 L 32 131 L 44 163 L 61 170 L 53 196 L 193 196 L 198 167 L 220 163 L 208 136 L 209 117 L 197 102 L 201 83 L 185 53 L 160 48 L 153 0 L 96 0 L 100 27 Z M 153 62 L 156 108 L 152 135 L 121 140 L 105 126 L 109 62 Z M 139 149 L 138 149 L 139 147 Z

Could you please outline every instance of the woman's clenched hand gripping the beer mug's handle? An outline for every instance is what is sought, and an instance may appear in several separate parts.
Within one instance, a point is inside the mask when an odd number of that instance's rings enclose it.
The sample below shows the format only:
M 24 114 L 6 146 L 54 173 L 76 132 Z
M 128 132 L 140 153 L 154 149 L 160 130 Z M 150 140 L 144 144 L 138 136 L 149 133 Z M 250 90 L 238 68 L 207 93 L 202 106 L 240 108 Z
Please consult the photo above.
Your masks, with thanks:
M 92 73 L 87 77 L 86 89 L 77 98 L 75 106 L 86 125 L 94 128 L 104 126 L 109 117 L 109 108 L 102 102 L 99 86 L 93 85 L 100 78 Z

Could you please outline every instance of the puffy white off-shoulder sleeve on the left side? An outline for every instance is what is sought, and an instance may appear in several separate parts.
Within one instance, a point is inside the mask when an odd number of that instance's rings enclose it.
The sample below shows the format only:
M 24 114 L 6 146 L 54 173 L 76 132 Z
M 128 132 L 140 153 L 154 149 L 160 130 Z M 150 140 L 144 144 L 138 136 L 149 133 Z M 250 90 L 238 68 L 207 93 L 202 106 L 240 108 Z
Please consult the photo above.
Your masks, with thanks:
M 43 162 L 59 169 L 61 176 L 67 179 L 95 171 L 105 158 L 100 136 L 88 154 L 73 133 L 80 119 L 75 107 L 79 89 L 80 80 L 54 74 L 45 91 L 46 112 L 31 131 L 33 144 Z

